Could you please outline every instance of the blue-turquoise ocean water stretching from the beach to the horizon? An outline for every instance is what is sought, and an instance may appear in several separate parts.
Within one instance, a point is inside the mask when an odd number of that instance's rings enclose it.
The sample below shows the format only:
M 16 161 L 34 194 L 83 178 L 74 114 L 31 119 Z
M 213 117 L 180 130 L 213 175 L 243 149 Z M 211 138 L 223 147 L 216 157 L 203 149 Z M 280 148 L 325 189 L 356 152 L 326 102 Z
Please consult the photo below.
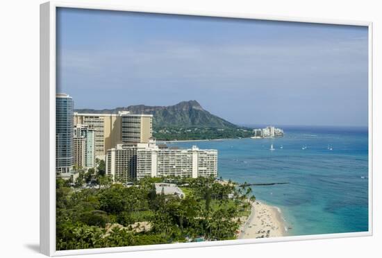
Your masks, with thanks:
M 224 180 L 288 182 L 252 187 L 256 199 L 281 209 L 288 235 L 367 231 L 367 128 L 281 128 L 285 135 L 276 139 L 170 145 L 217 149 Z

